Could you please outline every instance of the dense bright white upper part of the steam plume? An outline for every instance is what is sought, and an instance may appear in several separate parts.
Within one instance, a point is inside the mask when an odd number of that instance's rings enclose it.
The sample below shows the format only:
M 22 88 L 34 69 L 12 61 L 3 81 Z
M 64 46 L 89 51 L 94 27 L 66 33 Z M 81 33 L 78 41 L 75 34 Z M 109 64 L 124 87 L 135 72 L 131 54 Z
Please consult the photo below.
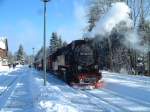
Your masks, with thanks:
M 113 3 L 110 10 L 101 17 L 93 28 L 91 35 L 110 35 L 112 29 L 120 22 L 125 22 L 126 27 L 131 28 L 133 26 L 130 19 L 130 8 L 124 2 Z

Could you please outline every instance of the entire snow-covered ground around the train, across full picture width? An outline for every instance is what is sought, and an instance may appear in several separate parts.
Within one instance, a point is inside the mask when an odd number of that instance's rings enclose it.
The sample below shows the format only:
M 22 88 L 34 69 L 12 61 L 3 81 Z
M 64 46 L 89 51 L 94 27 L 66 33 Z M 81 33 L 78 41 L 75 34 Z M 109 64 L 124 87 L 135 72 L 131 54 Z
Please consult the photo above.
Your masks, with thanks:
M 103 71 L 104 87 L 73 89 L 27 67 L 0 70 L 0 112 L 150 112 L 150 78 Z

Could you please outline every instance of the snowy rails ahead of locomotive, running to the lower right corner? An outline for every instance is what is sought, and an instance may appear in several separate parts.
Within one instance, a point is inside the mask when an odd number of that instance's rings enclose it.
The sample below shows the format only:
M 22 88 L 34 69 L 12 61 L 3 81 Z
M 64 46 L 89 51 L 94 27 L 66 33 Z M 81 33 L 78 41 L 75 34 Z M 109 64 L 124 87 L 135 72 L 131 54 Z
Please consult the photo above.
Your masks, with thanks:
M 120 96 L 116 93 L 112 93 L 108 90 L 107 91 L 99 90 L 99 94 L 86 91 L 86 94 L 103 101 L 103 104 L 106 103 L 107 108 L 111 107 L 113 110 L 117 112 L 149 112 L 150 111 L 150 105 L 148 105 L 147 103 L 139 102 L 133 99 L 131 100 L 129 98 Z M 140 109 L 145 109 L 145 110 L 140 110 Z

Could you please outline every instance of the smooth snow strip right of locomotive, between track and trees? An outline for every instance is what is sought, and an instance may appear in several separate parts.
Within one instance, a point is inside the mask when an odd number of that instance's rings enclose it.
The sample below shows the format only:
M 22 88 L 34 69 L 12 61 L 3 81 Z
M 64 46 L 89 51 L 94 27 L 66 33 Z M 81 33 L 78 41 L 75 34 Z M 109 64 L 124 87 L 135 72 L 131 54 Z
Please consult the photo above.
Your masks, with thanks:
M 124 96 L 150 102 L 150 77 L 103 72 L 106 88 Z

